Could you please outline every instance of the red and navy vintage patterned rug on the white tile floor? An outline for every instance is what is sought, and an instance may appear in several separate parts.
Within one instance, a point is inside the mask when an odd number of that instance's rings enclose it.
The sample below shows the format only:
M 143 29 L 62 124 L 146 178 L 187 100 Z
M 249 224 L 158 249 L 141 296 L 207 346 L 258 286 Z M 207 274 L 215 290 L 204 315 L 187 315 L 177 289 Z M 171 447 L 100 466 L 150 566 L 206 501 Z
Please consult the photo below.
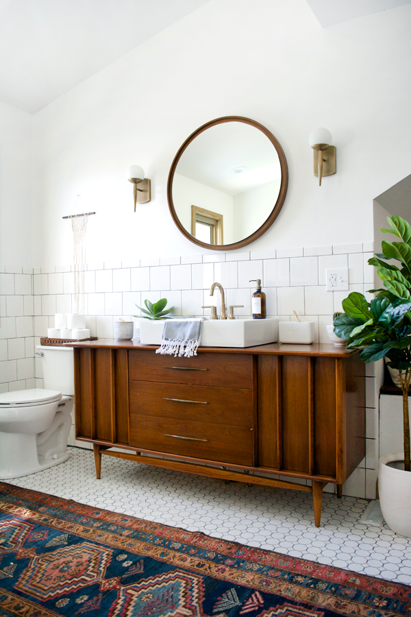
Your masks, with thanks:
M 411 587 L 0 482 L 0 617 L 394 617 Z

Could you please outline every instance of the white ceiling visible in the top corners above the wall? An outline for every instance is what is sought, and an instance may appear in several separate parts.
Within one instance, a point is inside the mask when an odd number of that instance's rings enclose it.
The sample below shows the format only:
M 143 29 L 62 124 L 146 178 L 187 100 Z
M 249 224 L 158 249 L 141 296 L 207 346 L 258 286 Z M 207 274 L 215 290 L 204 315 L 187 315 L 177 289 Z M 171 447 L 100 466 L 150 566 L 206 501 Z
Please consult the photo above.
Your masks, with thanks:
M 35 113 L 208 1 L 0 0 L 0 101 Z M 325 27 L 411 0 L 307 2 Z

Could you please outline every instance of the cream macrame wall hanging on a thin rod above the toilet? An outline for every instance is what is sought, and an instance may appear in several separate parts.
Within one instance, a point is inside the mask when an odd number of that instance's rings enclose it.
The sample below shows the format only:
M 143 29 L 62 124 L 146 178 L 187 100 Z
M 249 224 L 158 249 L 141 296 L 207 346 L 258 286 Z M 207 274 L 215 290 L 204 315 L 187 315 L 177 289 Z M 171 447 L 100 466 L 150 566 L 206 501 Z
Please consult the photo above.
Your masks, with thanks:
M 78 200 L 82 198 L 77 195 L 73 208 Z M 73 210 L 71 208 L 71 211 Z M 74 264 L 74 306 L 73 313 L 86 313 L 86 302 L 84 295 L 84 270 L 86 269 L 86 231 L 87 221 L 90 215 L 95 212 L 87 212 L 78 215 L 68 215 L 63 219 L 71 219 L 73 229 L 73 264 Z

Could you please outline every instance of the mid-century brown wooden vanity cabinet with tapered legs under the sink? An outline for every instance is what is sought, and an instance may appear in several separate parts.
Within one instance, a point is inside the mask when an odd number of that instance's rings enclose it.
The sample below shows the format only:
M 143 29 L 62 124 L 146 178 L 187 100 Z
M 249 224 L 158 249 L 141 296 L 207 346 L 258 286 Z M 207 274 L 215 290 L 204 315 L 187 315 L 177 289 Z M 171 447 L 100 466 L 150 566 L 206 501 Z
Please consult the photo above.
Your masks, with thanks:
M 323 487 L 341 496 L 365 455 L 364 385 L 358 354 L 332 345 L 202 348 L 186 359 L 133 341 L 76 343 L 76 438 L 92 441 L 97 477 L 105 454 L 306 490 L 319 525 Z

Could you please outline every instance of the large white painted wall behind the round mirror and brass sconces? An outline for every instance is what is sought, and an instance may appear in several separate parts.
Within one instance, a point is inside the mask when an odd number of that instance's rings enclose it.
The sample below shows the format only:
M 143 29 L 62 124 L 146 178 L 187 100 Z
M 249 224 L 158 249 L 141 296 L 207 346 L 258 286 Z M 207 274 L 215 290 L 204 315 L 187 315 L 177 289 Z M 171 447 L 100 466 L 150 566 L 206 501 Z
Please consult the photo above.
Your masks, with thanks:
M 305 0 L 210 0 L 34 116 L 36 264 L 71 261 L 62 216 L 96 210 L 88 261 L 203 252 L 166 201 L 175 153 L 228 114 L 265 125 L 290 171 L 274 226 L 249 250 L 373 238 L 373 198 L 410 173 L 411 6 L 321 29 Z M 325 126 L 337 173 L 319 188 L 308 136 Z M 134 214 L 125 169 L 151 178 Z

